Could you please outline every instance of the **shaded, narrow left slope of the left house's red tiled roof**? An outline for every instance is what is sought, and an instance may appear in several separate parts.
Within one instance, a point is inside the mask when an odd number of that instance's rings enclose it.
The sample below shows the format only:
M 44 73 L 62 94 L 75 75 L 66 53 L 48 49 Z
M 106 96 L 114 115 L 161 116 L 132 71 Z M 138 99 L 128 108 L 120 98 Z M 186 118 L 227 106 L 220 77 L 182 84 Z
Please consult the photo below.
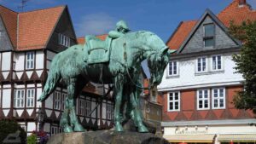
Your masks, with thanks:
M 11 43 L 16 47 L 17 43 L 17 16 L 18 13 L 0 5 L 0 15 L 8 32 Z

